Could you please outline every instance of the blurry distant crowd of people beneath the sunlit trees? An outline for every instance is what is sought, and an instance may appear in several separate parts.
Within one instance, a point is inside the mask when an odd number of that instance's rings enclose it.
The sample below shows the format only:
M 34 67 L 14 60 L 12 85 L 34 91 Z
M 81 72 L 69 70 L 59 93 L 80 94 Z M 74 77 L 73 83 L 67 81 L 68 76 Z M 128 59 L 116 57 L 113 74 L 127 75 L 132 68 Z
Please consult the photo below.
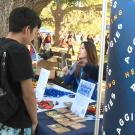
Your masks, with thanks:
M 108 34 L 107 34 L 108 35 Z M 93 42 L 95 45 L 100 44 L 100 36 L 99 35 L 90 35 L 83 34 L 82 32 L 60 32 L 59 34 L 59 44 L 57 46 L 61 48 L 67 48 L 67 53 L 72 51 L 72 55 L 74 52 L 74 45 L 80 45 L 84 41 Z M 108 50 L 109 38 L 106 36 L 105 42 L 105 55 Z M 50 33 L 40 33 L 38 34 L 38 48 L 40 50 L 49 50 L 51 46 L 54 44 L 54 35 Z

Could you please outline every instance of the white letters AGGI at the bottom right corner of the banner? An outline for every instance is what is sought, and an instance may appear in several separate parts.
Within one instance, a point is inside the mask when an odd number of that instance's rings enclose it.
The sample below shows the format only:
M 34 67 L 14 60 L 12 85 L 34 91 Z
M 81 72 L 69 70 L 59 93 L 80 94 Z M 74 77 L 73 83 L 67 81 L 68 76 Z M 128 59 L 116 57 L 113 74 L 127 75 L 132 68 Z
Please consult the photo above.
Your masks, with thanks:
M 128 114 L 125 113 L 123 118 L 119 119 L 119 128 L 116 128 L 116 132 L 118 135 L 121 135 L 122 127 L 127 123 L 127 122 L 132 122 L 134 120 L 134 115 L 133 113 Z

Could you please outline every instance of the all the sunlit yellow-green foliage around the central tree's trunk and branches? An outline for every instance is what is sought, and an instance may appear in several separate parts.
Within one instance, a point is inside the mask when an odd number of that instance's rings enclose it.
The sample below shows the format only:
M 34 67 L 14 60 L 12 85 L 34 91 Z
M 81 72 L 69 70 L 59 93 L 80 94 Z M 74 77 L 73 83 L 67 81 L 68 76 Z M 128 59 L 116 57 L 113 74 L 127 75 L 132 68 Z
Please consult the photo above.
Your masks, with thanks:
M 96 11 L 95 5 L 101 5 L 101 0 L 54 0 L 48 7 L 44 8 L 41 13 L 40 17 L 44 20 L 43 25 L 54 30 L 55 21 L 51 14 L 51 8 L 56 9 L 57 4 L 72 7 L 72 5 L 77 4 L 77 2 L 83 3 L 84 6 L 91 5 L 90 11 L 76 10 L 67 13 L 63 18 L 63 22 L 61 22 L 62 30 L 82 31 L 94 35 L 99 34 L 101 32 L 101 11 Z

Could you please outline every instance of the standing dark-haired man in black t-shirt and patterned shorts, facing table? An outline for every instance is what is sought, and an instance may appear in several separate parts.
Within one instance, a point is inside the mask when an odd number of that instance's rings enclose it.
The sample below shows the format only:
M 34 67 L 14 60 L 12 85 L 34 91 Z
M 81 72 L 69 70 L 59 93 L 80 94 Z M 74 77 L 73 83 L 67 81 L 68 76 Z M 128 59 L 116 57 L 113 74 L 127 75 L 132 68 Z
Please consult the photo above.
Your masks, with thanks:
M 41 21 L 26 7 L 14 9 L 9 17 L 9 33 L 0 39 L 7 45 L 7 78 L 19 107 L 9 120 L 0 123 L 0 135 L 34 135 L 38 124 L 36 98 L 32 87 L 32 61 L 26 44 L 37 34 Z

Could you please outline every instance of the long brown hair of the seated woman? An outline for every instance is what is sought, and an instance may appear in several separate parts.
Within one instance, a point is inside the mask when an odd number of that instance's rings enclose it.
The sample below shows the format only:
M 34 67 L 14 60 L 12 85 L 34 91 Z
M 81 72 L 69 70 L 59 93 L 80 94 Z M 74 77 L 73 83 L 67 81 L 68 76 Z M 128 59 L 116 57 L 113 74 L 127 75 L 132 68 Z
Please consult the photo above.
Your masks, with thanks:
M 91 64 L 93 66 L 98 65 L 98 56 L 97 56 L 97 51 L 94 43 L 92 41 L 85 41 L 82 42 L 84 44 L 85 50 L 87 52 L 87 59 L 88 59 L 88 64 Z M 80 76 L 80 66 L 78 65 L 76 68 L 76 73 L 75 75 L 77 77 Z

